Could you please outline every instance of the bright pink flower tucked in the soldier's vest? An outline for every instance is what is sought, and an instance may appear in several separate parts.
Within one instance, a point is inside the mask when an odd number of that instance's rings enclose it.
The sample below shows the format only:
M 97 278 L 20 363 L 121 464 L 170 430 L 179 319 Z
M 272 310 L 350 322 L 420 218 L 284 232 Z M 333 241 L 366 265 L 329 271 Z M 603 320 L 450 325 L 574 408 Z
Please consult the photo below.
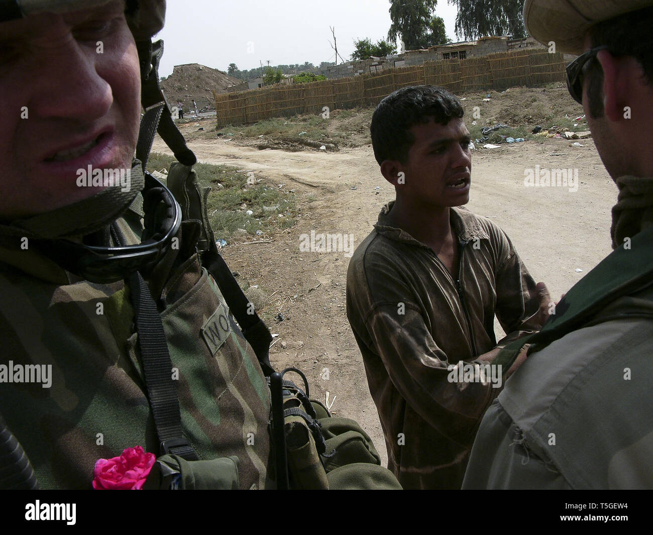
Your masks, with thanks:
M 156 460 L 142 446 L 128 447 L 120 457 L 98 459 L 93 469 L 93 489 L 140 490 Z

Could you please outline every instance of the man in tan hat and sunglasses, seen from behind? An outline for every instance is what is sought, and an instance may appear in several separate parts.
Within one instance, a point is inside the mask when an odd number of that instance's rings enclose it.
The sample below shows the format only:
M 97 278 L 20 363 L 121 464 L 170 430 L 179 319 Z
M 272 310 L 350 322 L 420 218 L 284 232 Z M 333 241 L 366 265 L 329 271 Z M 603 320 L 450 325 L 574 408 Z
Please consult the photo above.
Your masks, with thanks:
M 653 0 L 526 0 L 524 23 L 579 54 L 567 85 L 619 190 L 614 251 L 497 357 L 528 353 L 481 422 L 463 488 L 651 488 Z

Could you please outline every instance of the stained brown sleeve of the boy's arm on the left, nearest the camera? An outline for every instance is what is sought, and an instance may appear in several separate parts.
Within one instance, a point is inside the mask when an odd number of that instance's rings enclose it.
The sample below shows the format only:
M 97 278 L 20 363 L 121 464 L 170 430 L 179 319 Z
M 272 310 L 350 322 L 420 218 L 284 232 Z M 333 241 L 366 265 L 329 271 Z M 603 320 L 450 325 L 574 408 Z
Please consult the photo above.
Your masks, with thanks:
M 486 408 L 498 394 L 491 384 L 449 381 L 449 360 L 434 342 L 416 306 L 406 303 L 405 314 L 394 305 L 377 306 L 366 320 L 390 380 L 429 425 L 464 447 Z

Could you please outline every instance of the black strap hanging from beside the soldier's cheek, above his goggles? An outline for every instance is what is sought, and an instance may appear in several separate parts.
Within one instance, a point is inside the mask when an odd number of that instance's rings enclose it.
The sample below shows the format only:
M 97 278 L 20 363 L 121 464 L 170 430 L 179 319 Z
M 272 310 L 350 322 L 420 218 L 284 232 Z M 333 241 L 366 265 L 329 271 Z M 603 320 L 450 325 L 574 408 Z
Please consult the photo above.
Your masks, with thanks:
M 174 124 L 165 95 L 163 95 L 161 85 L 159 84 L 159 61 L 161 61 L 161 55 L 163 54 L 163 41 L 149 44 L 147 42 L 140 42 L 137 46 L 140 54 L 146 54 L 146 50 L 151 50 L 151 68 L 148 76 L 142 80 L 140 101 L 146 109 L 160 102 L 165 103 L 157 132 L 159 132 L 159 135 L 166 142 L 167 146 L 170 147 L 177 161 L 183 163 L 183 165 L 195 165 L 197 158 L 193 154 L 193 151 L 186 146 L 186 140 Z

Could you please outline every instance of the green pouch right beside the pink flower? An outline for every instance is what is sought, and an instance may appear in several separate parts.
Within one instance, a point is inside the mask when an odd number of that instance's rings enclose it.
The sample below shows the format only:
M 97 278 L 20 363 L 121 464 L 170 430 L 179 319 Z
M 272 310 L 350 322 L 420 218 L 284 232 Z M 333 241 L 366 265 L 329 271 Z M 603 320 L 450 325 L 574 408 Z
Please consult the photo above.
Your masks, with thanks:
M 236 456 L 212 461 L 186 461 L 178 455 L 162 455 L 143 485 L 146 490 L 238 490 Z

